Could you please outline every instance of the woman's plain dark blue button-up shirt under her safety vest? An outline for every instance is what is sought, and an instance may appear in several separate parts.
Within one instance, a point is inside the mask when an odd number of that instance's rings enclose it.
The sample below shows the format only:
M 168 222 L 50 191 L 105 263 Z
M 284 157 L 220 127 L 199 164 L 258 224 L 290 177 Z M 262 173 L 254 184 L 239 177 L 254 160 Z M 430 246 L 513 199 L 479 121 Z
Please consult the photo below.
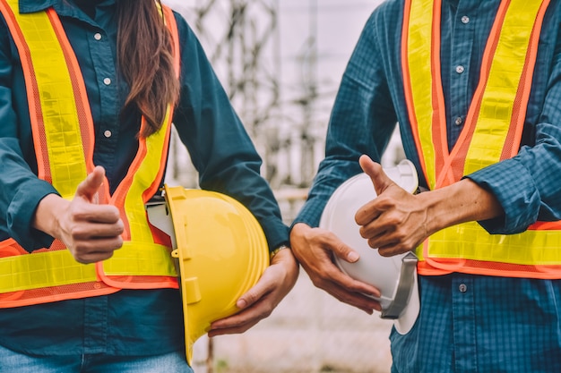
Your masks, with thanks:
M 21 0 L 23 13 L 53 6 L 82 68 L 95 124 L 94 163 L 106 169 L 115 191 L 138 148 L 140 114 L 121 113 L 128 87 L 117 72 L 115 0 Z M 94 4 L 95 3 L 95 4 Z M 267 182 L 262 160 L 186 21 L 175 14 L 181 49 L 181 96 L 174 116 L 179 138 L 203 189 L 244 203 L 258 218 L 271 248 L 288 242 L 288 227 Z M 109 78 L 110 84 L 104 79 Z M 17 49 L 0 18 L 0 240 L 13 237 L 27 250 L 52 237 L 31 228 L 39 200 L 56 193 L 37 176 L 28 100 Z M 105 136 L 104 133 L 109 133 Z M 174 290 L 122 291 L 107 297 L 0 309 L 0 343 L 37 354 L 144 355 L 181 350 L 183 318 Z M 0 363 L 1 364 L 1 363 Z

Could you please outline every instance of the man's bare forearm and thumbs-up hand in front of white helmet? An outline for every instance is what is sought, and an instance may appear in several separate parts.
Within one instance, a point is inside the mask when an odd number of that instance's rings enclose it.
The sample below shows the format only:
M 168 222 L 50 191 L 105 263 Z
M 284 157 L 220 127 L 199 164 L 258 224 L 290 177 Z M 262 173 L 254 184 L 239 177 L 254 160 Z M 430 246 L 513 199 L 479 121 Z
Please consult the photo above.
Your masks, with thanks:
M 413 195 L 369 157 L 362 156 L 359 162 L 377 197 L 359 208 L 355 219 L 361 225 L 360 235 L 385 257 L 413 250 L 430 234 L 449 226 L 505 214 L 495 195 L 469 178 Z

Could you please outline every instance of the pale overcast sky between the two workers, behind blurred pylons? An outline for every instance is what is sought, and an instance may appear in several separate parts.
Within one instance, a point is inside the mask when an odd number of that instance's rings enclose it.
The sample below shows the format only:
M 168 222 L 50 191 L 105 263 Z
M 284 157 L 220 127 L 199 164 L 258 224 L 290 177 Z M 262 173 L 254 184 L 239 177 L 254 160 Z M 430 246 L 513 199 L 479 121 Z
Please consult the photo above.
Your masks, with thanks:
M 190 23 L 209 57 L 216 50 L 216 45 L 224 39 L 229 23 L 231 0 L 216 0 L 209 15 L 204 18 L 203 30 L 196 29 L 195 10 L 209 0 L 163 0 L 172 8 L 182 13 Z M 263 3 L 274 4 L 274 0 L 263 0 Z M 274 137 L 282 141 L 289 140 L 293 148 L 287 150 L 286 157 L 290 160 L 277 162 L 279 174 L 291 174 L 292 181 L 298 183 L 300 177 L 309 177 L 315 173 L 315 165 L 324 157 L 324 134 L 331 114 L 333 100 L 341 81 L 341 75 L 349 61 L 361 30 L 375 7 L 383 0 L 276 0 L 278 9 L 278 33 L 263 52 L 262 66 L 269 73 L 274 73 L 280 83 L 280 113 L 274 125 L 277 132 Z M 262 2 L 246 0 L 249 4 L 252 21 L 256 30 L 263 31 L 269 27 L 270 17 L 264 13 Z M 252 3 L 253 2 L 253 3 Z M 237 0 L 237 4 L 243 0 Z M 316 10 L 314 12 L 314 10 Z M 263 13 L 263 16 L 261 15 Z M 315 34 L 315 53 L 317 55 L 315 69 L 310 70 L 302 64 L 304 52 L 309 51 L 309 40 Z M 245 36 L 251 38 L 251 35 Z M 226 49 L 218 62 L 213 63 L 220 81 L 228 90 L 228 64 L 225 63 Z M 308 55 L 309 56 L 309 55 Z M 239 55 L 236 58 L 241 60 Z M 237 64 L 239 68 L 241 64 Z M 297 104 L 298 99 L 306 97 L 304 85 L 310 79 L 315 80 L 318 99 L 310 106 L 310 111 Z M 260 92 L 257 99 L 266 101 L 270 92 Z M 244 114 L 243 101 L 235 97 L 233 105 L 244 123 L 249 117 Z M 306 113 L 309 116 L 306 116 Z M 251 113 L 250 113 L 251 114 Z M 297 129 L 295 126 L 298 126 Z M 306 129 L 306 130 L 303 130 Z M 295 131 L 296 130 L 296 131 Z M 306 144 L 302 150 L 298 145 L 301 141 L 299 133 L 306 131 L 307 136 L 314 139 L 313 144 Z M 269 136 L 269 137 L 268 137 Z M 253 133 L 255 144 L 261 154 L 266 153 L 270 134 L 259 130 Z M 263 148 L 264 146 L 264 148 Z M 399 147 L 399 144 L 397 145 Z M 303 152 L 307 152 L 304 154 Z M 278 157 L 285 157 L 280 154 Z M 393 156 L 392 156 L 393 157 Z M 387 161 L 393 163 L 393 158 Z M 265 163 L 267 159 L 265 158 Z M 310 165 L 312 162 L 313 165 Z M 384 163 L 384 159 L 383 159 Z M 304 164 L 304 166 L 303 166 Z M 304 167 L 304 171 L 303 170 Z M 312 169 L 310 169 L 312 167 Z M 304 176 L 301 176 L 304 175 Z

